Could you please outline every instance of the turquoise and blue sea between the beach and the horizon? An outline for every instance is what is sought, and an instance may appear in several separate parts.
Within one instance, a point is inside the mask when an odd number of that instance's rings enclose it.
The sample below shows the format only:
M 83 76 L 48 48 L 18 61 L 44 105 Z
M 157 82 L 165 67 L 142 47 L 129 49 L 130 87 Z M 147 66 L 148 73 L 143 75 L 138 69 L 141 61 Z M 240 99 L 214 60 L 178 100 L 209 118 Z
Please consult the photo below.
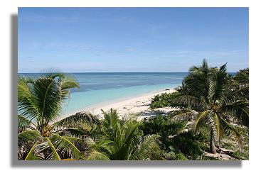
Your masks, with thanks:
M 181 85 L 187 72 L 100 72 L 73 73 L 80 84 L 72 89 L 63 113 L 73 113 L 99 104 L 111 103 Z M 38 77 L 40 74 L 23 74 Z

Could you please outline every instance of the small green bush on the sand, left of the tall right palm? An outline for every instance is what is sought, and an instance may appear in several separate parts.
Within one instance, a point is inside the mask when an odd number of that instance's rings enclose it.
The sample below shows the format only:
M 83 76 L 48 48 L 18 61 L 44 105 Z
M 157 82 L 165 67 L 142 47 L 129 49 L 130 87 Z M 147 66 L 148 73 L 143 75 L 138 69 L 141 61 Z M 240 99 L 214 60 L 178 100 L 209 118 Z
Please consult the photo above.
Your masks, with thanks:
M 164 108 L 168 107 L 171 104 L 171 101 L 173 101 L 177 96 L 179 96 L 179 92 L 174 92 L 171 94 L 157 94 L 154 99 L 151 101 L 151 109 L 157 109 L 157 108 Z

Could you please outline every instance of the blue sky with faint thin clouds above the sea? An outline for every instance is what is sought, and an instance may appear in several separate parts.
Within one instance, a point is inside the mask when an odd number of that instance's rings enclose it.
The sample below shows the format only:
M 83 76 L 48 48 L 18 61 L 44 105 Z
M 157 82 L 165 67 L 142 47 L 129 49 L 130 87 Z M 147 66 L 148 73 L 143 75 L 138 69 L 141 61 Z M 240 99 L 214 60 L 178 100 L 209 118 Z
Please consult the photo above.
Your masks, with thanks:
M 19 8 L 18 72 L 248 67 L 247 8 Z

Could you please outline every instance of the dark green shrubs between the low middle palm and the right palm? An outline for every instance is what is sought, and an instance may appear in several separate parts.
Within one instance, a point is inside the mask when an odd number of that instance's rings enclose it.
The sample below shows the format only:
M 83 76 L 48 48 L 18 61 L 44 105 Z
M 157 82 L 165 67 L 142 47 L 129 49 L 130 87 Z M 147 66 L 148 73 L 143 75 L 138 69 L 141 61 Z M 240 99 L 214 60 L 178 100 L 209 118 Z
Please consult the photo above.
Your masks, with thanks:
M 193 132 L 183 132 L 187 121 L 172 121 L 166 116 L 156 116 L 144 120 L 140 128 L 144 134 L 158 134 L 161 149 L 167 160 L 196 160 L 203 150 L 199 140 L 203 140 L 201 133 L 196 136 Z M 171 136 L 171 137 L 170 137 Z

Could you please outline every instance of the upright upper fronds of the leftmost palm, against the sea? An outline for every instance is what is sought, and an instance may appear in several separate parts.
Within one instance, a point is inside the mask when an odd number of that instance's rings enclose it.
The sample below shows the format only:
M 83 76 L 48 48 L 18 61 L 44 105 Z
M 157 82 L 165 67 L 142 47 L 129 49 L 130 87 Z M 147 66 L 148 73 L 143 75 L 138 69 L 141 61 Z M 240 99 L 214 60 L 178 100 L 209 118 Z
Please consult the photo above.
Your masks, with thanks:
M 18 114 L 35 121 L 41 130 L 59 116 L 70 89 L 78 87 L 78 82 L 65 74 L 43 74 L 36 79 L 18 75 Z

